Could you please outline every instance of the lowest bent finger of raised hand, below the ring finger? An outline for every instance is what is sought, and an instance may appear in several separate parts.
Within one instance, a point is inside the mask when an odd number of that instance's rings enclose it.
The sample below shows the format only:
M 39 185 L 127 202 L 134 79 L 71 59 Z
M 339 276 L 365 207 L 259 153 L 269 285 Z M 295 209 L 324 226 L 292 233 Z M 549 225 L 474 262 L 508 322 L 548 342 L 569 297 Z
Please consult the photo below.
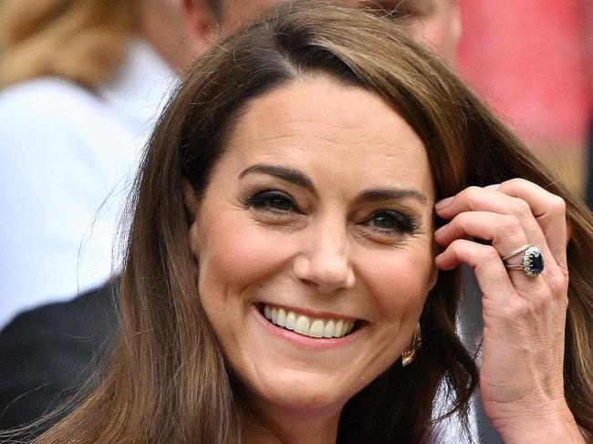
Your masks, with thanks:
M 461 263 L 473 267 L 485 298 L 505 304 L 511 297 L 516 297 L 515 286 L 506 273 L 505 265 L 491 245 L 457 239 L 435 258 L 434 263 L 441 270 L 453 270 Z

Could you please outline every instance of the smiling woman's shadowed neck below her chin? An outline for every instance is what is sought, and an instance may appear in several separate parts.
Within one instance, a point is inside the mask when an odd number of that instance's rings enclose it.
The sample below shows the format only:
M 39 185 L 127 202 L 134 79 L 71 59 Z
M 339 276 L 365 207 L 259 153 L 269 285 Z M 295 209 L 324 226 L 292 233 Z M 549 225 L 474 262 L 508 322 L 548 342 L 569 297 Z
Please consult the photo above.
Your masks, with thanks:
M 335 443 L 341 408 L 298 410 L 269 405 L 241 408 L 243 444 Z

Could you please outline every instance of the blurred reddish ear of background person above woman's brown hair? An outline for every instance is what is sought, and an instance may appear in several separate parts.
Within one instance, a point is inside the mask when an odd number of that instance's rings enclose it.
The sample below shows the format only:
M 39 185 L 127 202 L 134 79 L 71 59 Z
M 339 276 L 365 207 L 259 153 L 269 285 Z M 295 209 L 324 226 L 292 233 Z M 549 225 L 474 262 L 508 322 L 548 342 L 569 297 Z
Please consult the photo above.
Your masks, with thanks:
M 197 57 L 212 45 L 217 20 L 207 0 L 182 0 L 182 3 L 183 25 L 191 36 L 193 54 Z

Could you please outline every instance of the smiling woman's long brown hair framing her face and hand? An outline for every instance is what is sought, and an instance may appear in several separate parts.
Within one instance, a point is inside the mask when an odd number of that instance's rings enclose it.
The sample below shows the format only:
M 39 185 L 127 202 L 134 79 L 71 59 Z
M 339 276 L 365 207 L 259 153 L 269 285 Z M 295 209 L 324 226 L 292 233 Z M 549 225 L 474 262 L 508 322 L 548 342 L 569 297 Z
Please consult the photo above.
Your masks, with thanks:
M 565 390 L 593 431 L 593 223 L 588 210 L 468 88 L 400 28 L 346 6 L 289 5 L 201 57 L 161 116 L 130 201 L 121 277 L 119 344 L 99 387 L 39 443 L 230 444 L 241 441 L 241 390 L 196 294 L 182 183 L 208 185 L 225 138 L 250 99 L 310 75 L 378 95 L 418 133 L 437 199 L 515 177 L 567 203 Z M 399 362 L 344 408 L 341 443 L 431 440 L 440 384 L 462 412 L 477 384 L 473 356 L 455 335 L 460 272 L 441 272 L 421 315 L 416 360 Z

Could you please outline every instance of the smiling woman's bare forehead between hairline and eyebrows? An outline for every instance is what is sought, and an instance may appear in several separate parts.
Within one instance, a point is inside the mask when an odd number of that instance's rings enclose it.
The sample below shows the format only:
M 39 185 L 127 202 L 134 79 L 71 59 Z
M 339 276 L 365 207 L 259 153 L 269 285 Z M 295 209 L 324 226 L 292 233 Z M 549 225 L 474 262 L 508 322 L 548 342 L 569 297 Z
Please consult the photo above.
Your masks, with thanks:
M 314 181 L 411 186 L 432 195 L 421 139 L 383 100 L 330 77 L 299 78 L 252 100 L 223 159 L 281 163 Z

